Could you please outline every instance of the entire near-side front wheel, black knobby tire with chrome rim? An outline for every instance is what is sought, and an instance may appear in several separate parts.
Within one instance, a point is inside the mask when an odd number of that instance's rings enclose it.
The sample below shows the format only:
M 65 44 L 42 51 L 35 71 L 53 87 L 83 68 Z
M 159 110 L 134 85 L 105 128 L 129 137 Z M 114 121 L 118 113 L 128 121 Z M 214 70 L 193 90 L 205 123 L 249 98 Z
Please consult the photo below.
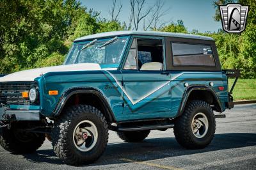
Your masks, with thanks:
M 108 143 L 108 124 L 103 114 L 90 105 L 73 106 L 54 122 L 52 146 L 63 162 L 90 164 Z

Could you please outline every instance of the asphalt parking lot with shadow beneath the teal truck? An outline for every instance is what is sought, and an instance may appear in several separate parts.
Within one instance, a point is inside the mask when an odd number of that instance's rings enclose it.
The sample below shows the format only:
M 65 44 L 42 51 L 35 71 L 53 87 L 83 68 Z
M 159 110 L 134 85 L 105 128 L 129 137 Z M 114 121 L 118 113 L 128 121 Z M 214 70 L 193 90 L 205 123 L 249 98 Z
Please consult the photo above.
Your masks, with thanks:
M 217 119 L 212 143 L 202 150 L 182 148 L 173 130 L 153 130 L 142 143 L 125 143 L 109 132 L 108 147 L 94 164 L 62 164 L 45 141 L 36 153 L 12 155 L 0 147 L 0 169 L 256 169 L 256 104 L 236 105 Z

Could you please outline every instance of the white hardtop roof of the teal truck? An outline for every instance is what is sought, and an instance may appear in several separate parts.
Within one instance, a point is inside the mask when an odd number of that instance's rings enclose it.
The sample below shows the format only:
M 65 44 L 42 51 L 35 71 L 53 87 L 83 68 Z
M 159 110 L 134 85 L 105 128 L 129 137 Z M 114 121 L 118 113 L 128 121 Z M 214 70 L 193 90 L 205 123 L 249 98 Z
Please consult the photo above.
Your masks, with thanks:
M 106 33 L 99 33 L 95 35 L 83 36 L 81 38 L 77 38 L 76 40 L 74 40 L 74 42 L 80 42 L 83 40 L 90 40 L 95 38 L 121 36 L 121 35 L 170 36 L 170 37 L 178 37 L 178 38 L 193 38 L 193 39 L 199 39 L 199 40 L 214 41 L 214 39 L 209 36 L 189 35 L 189 34 L 183 34 L 183 33 L 167 33 L 167 32 L 160 32 L 160 31 L 112 31 L 112 32 L 106 32 Z

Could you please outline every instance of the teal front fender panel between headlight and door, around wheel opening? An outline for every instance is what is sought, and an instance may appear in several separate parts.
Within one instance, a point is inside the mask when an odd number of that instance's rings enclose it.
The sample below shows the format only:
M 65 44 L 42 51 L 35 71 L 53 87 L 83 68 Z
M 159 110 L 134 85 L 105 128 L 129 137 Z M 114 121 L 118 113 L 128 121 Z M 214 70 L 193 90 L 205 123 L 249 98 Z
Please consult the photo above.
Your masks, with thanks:
M 110 72 L 115 75 L 116 80 L 122 81 L 122 73 L 119 70 L 46 73 L 43 76 L 45 79 L 45 90 L 42 93 L 42 100 L 45 102 L 43 115 L 54 118 L 61 111 L 60 104 L 63 102 L 63 98 L 68 98 L 68 94 L 71 92 L 78 93 L 75 89 L 94 89 L 100 98 L 104 97 L 103 101 L 107 101 L 105 103 L 111 107 L 116 120 L 118 120 L 118 116 L 122 118 L 122 88 L 117 86 Z M 48 92 L 52 90 L 56 90 L 58 93 L 49 95 Z M 88 93 L 88 91 L 81 91 L 81 93 Z

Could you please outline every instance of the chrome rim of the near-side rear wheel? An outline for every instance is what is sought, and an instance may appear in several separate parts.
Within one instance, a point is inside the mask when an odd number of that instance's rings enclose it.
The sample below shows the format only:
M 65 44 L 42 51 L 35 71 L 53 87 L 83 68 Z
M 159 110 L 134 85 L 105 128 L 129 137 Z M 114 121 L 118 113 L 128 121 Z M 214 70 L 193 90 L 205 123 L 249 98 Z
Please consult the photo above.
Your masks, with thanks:
M 197 138 L 202 138 L 207 134 L 208 128 L 209 128 L 209 123 L 208 123 L 207 117 L 205 116 L 204 113 L 198 112 L 194 116 L 191 123 L 191 129 L 193 134 Z

